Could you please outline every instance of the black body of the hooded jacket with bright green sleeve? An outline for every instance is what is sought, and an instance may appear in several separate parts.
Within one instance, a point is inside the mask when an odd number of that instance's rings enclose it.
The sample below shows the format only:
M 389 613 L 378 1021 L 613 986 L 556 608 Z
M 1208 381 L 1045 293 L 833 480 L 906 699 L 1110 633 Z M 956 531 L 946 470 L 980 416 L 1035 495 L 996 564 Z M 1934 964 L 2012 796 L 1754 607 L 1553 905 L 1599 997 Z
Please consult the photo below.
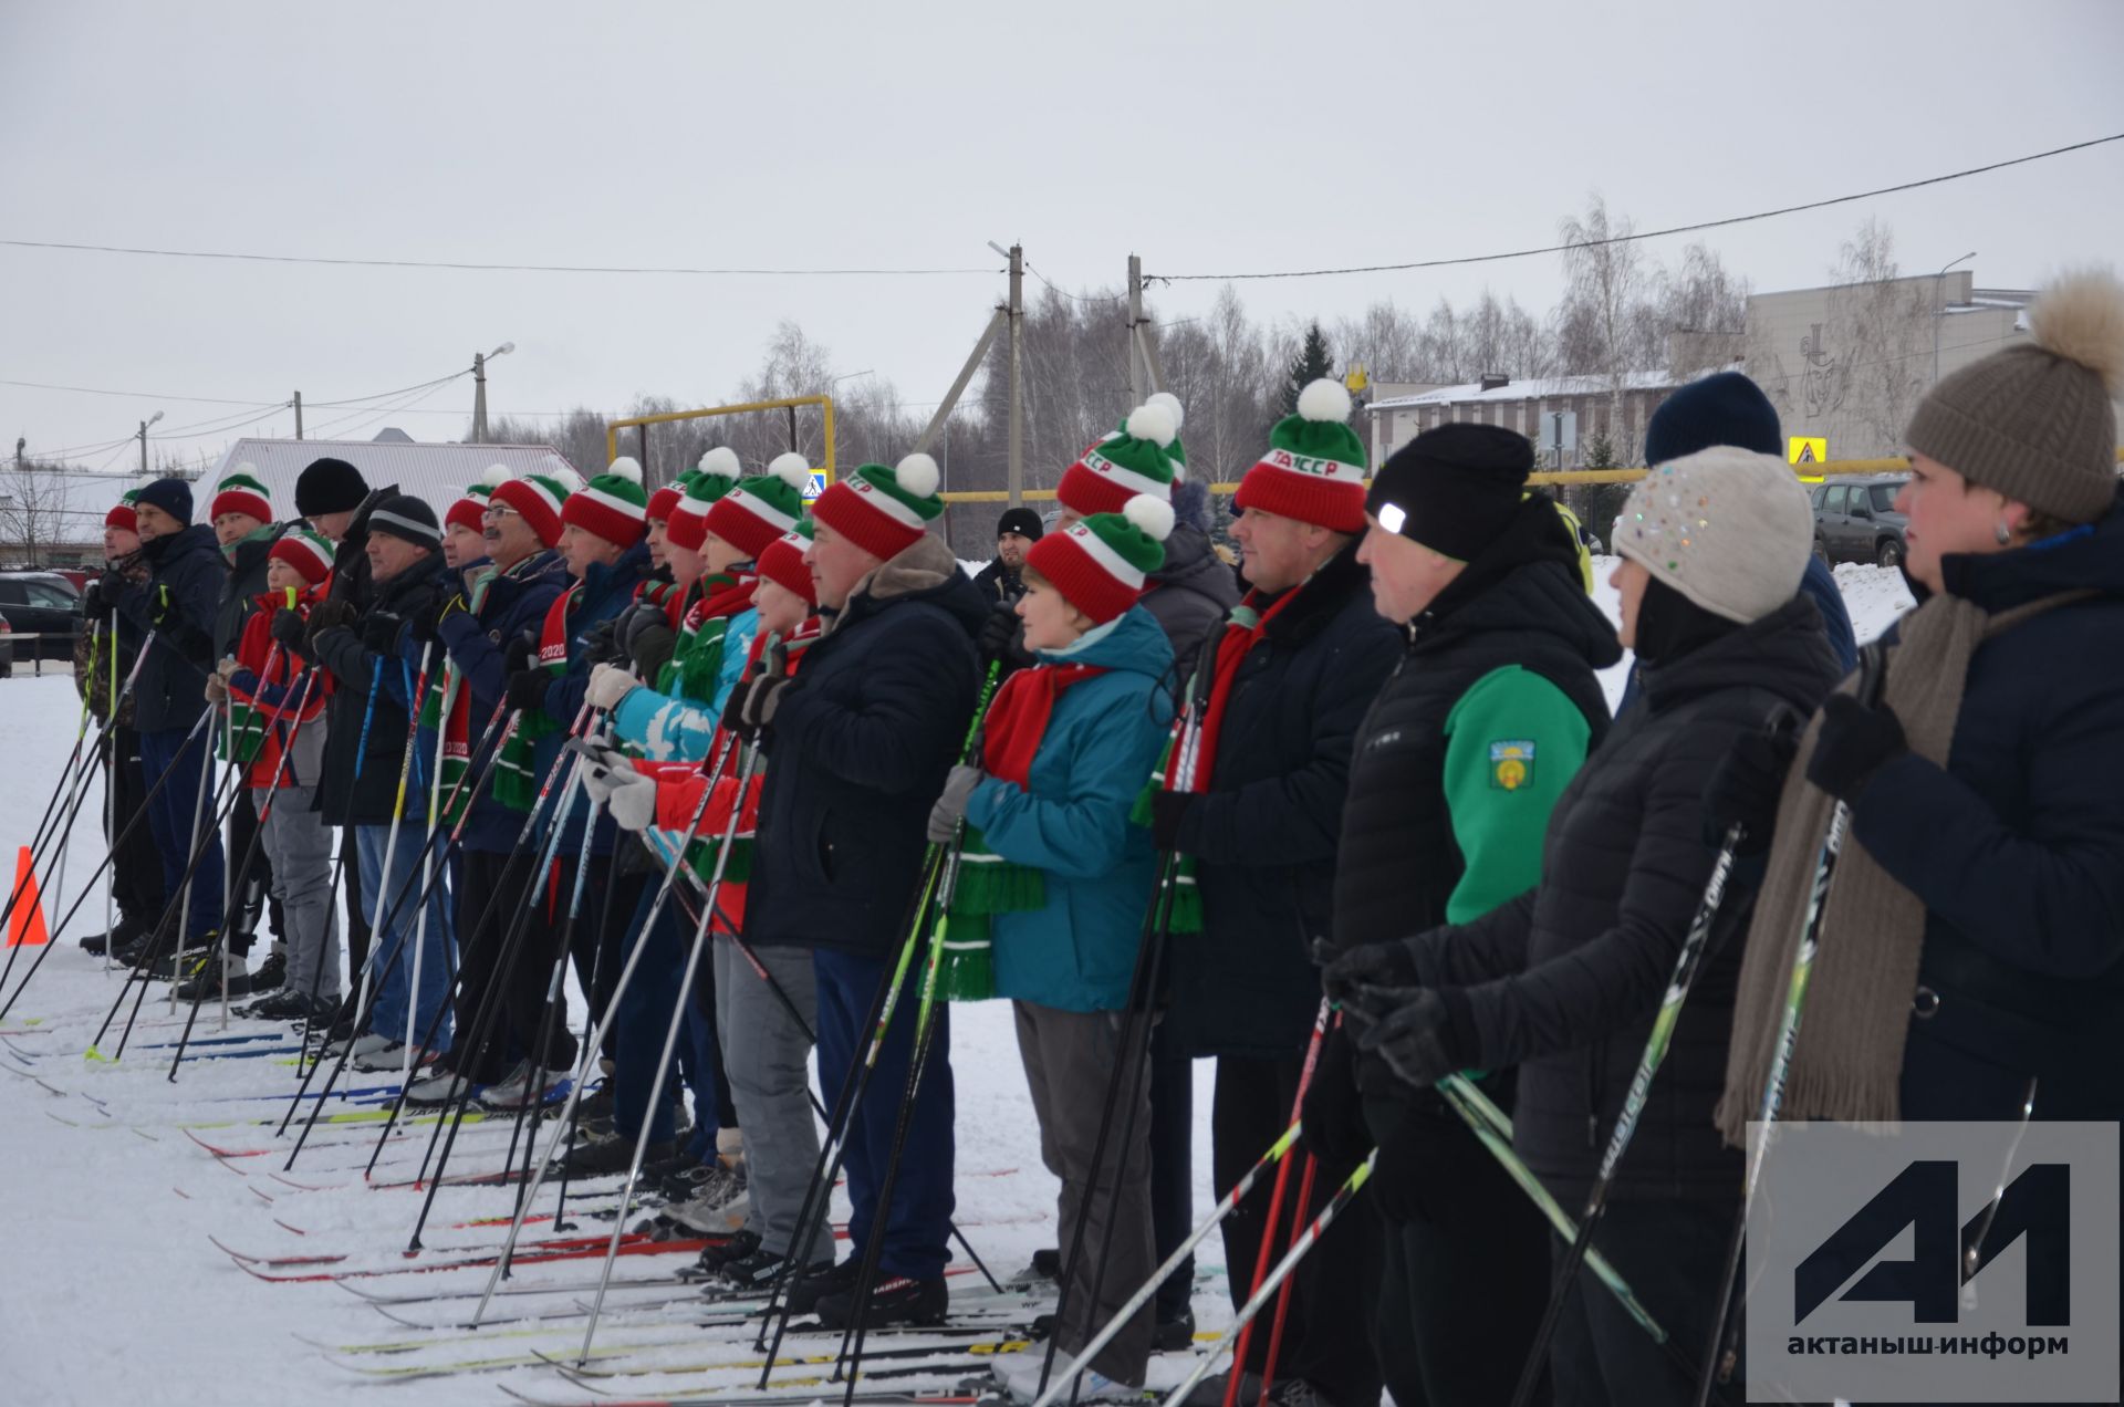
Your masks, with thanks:
M 1599 746 L 1608 699 L 1593 672 L 1621 657 L 1555 506 L 1546 495 L 1527 499 L 1493 548 L 1410 623 L 1408 646 L 1357 731 L 1336 859 L 1338 948 L 1446 922 L 1466 871 L 1444 795 L 1444 729 L 1461 695 L 1519 665 L 1563 691 Z

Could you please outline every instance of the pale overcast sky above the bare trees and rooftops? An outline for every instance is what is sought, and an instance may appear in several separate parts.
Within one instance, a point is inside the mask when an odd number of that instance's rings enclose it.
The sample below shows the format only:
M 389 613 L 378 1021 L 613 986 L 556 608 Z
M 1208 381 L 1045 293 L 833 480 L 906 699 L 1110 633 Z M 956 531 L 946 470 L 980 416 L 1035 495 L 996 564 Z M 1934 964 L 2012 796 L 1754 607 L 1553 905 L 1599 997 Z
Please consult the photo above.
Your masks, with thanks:
M 618 276 L 0 247 L 0 431 L 32 453 L 444 376 L 514 340 L 491 408 L 729 400 L 784 317 L 905 402 L 1003 293 L 1555 242 L 1597 189 L 1640 227 L 2124 132 L 2124 4 L 93 4 L 0 0 L 0 238 L 355 259 L 920 268 Z M 2033 287 L 2118 261 L 2124 142 L 1708 236 L 1757 291 L 1861 219 L 1905 272 Z M 1672 259 L 1682 240 L 1657 240 Z M 1546 310 L 1553 255 L 1245 283 L 1257 317 Z M 1039 285 L 1028 283 L 1030 289 Z M 1215 283 L 1153 289 L 1162 317 Z M 463 434 L 472 383 L 397 423 Z M 312 410 L 312 434 L 333 414 Z M 367 412 L 363 412 L 365 417 Z M 236 434 L 172 438 L 219 451 Z M 127 468 L 123 448 L 87 468 Z

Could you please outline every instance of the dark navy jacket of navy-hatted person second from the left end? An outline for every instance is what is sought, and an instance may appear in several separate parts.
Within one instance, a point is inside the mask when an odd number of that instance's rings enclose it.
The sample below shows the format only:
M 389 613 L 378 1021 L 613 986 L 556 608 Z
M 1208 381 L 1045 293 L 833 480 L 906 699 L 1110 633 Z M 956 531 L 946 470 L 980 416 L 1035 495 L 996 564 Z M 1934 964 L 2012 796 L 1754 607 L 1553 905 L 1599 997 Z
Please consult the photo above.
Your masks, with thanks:
M 134 727 L 142 733 L 189 729 L 206 712 L 206 676 L 215 669 L 215 610 L 227 567 L 215 529 L 193 523 L 140 546 L 147 582 L 127 582 L 119 612 L 147 640 L 147 663 L 134 682 Z M 168 601 L 168 606 L 164 606 Z M 161 614 L 161 627 L 155 616 Z

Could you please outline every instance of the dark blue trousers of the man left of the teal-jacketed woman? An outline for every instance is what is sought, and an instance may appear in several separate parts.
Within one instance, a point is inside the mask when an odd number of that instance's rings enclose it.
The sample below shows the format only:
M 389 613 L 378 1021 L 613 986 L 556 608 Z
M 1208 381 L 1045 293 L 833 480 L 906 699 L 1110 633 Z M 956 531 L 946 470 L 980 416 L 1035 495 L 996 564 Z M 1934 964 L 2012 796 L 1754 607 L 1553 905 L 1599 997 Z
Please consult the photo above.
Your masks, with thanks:
M 850 952 L 828 952 L 818 948 L 811 954 L 811 969 L 818 973 L 818 1078 L 826 1086 L 828 1105 L 841 1097 L 841 1084 L 858 1078 L 856 1058 L 869 1046 L 871 1001 L 890 967 L 881 956 L 856 956 Z M 847 1220 L 850 1254 L 860 1256 L 877 1224 L 877 1192 L 892 1158 L 892 1131 L 901 1118 L 907 1092 L 907 1067 L 915 1048 L 915 986 L 920 973 L 909 973 L 901 990 L 901 1003 L 886 1029 L 886 1044 L 877 1052 L 877 1069 L 871 1073 L 871 1088 L 847 1126 L 847 1199 L 854 1207 Z M 907 1129 L 907 1146 L 901 1152 L 901 1171 L 892 1186 L 892 1205 L 886 1207 L 886 1243 L 877 1256 L 881 1275 L 907 1275 L 911 1279 L 935 1279 L 952 1260 L 952 1167 L 956 1160 L 952 1139 L 954 1095 L 952 1095 L 952 1007 L 939 1001 L 930 1020 L 937 1033 L 930 1037 L 928 1061 L 922 1065 L 922 1084 L 915 1086 L 913 1122 Z

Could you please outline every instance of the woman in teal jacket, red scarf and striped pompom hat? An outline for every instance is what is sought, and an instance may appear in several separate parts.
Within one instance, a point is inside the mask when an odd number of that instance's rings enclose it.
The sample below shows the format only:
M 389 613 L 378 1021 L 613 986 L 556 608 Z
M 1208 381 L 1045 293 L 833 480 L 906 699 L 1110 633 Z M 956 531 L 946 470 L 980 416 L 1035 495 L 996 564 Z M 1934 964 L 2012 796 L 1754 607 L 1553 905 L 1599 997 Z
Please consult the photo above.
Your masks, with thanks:
M 1121 1012 L 1155 882 L 1149 831 L 1128 814 L 1172 725 L 1162 686 L 1172 646 L 1136 599 L 1164 565 L 1170 527 L 1170 506 L 1138 495 L 1124 512 L 1094 514 L 1032 546 L 1017 614 L 1039 663 L 1005 682 L 981 725 L 981 765 L 956 767 L 930 816 L 935 840 L 966 823 L 962 884 L 979 871 L 975 882 L 1020 897 L 990 920 L 994 990 L 1015 1003 L 1041 1158 L 1062 1180 L 1060 1245 L 1073 1245 L 1085 1220 L 1085 1254 L 1064 1267 L 1068 1309 L 1056 1326 L 1064 1354 L 1113 1318 L 1153 1265 L 1147 1061 L 1132 1061 L 1136 1078 L 1124 1092 L 1134 1120 L 1115 1112 L 1115 1129 L 1132 1129 L 1128 1148 L 1111 1137 L 1094 1171 L 1092 1146 L 1121 1058 Z M 1092 1358 L 1079 1401 L 1143 1386 L 1151 1320 L 1145 1305 Z M 1028 1375 L 1020 1364 L 998 1375 L 1030 1401 L 1041 1358 L 1026 1354 Z

